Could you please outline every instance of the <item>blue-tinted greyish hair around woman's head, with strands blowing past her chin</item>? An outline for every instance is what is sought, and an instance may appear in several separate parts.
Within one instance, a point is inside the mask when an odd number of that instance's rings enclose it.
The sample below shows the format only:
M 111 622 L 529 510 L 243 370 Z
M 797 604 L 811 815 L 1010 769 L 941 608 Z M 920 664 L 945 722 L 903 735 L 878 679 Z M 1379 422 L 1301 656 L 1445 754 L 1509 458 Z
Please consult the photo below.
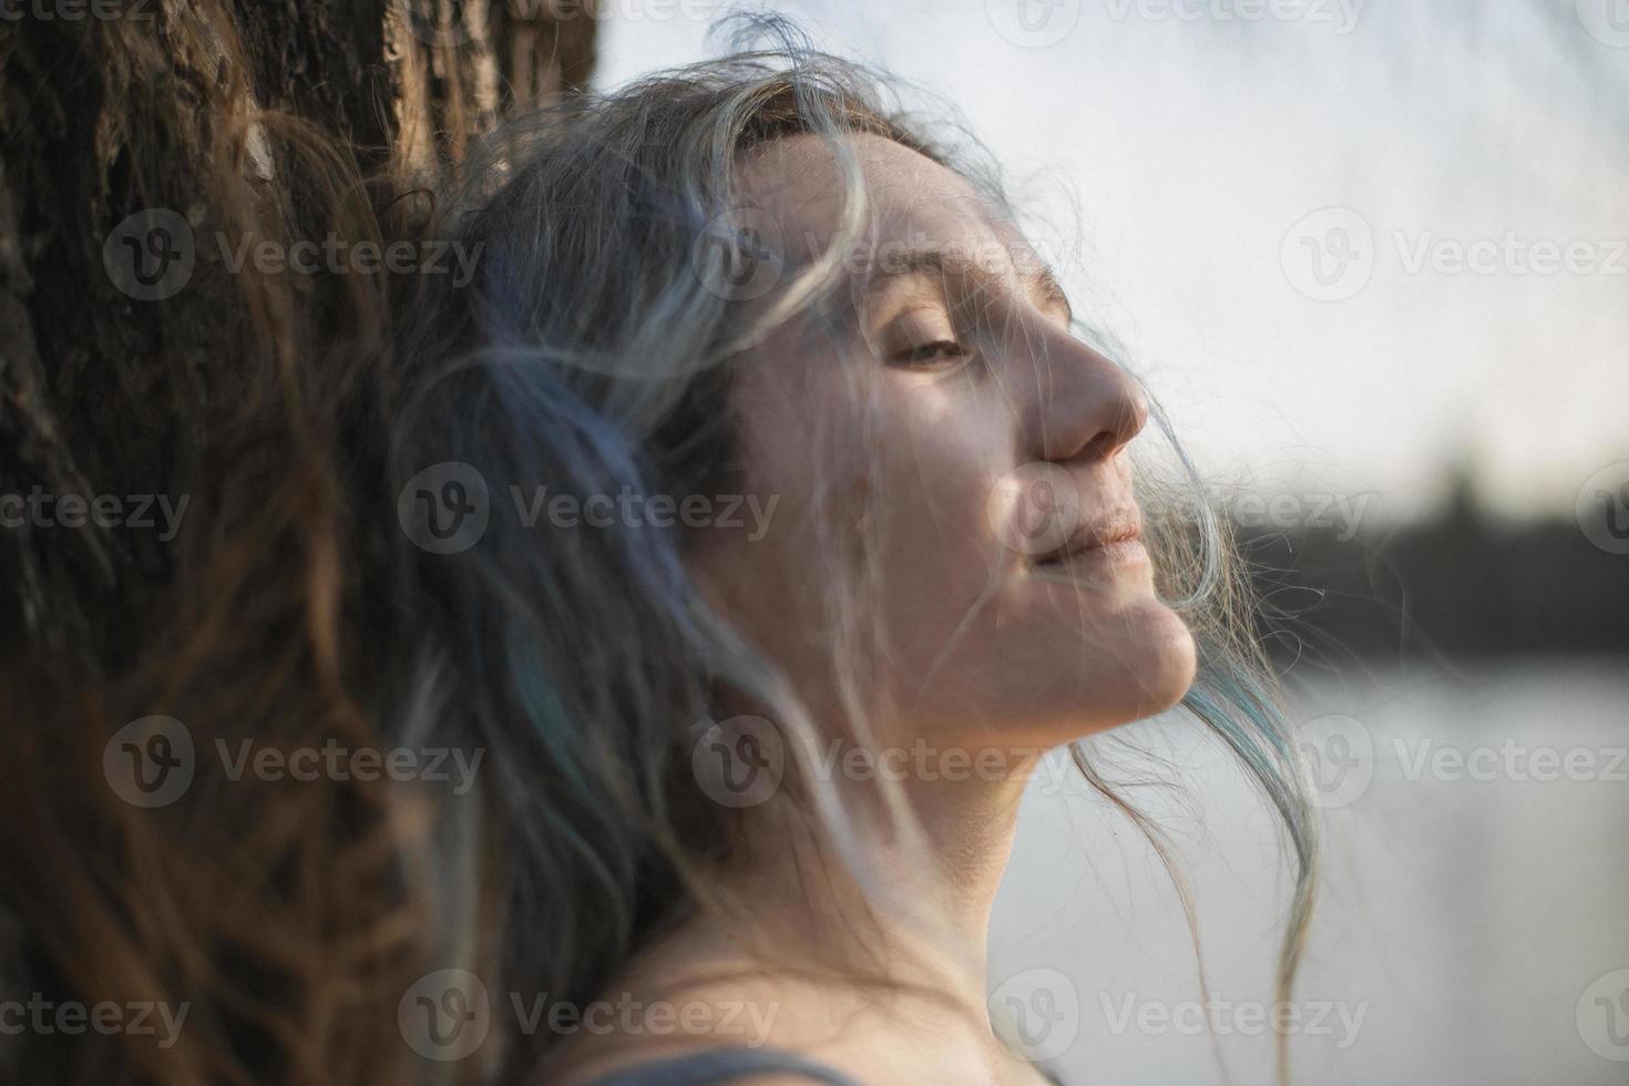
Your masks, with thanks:
M 692 272 L 696 244 L 736 205 L 743 150 L 793 134 L 837 147 L 867 132 L 977 173 L 904 119 L 886 80 L 777 33 L 775 49 L 655 75 L 495 134 L 440 194 L 438 228 L 479 246 L 476 280 L 427 282 L 404 308 L 386 376 L 384 485 L 370 492 L 396 495 L 451 464 L 490 488 L 494 515 L 479 545 L 458 554 L 393 541 L 381 568 L 394 575 L 378 588 L 396 620 L 378 651 L 401 666 L 381 716 L 406 736 L 490 751 L 482 788 L 428 812 L 417 869 L 435 910 L 430 957 L 497 977 L 505 992 L 585 1005 L 663 925 L 740 905 L 709 879 L 730 848 L 731 812 L 691 772 L 692 726 L 715 713 L 720 689 L 762 707 L 793 752 L 818 736 L 774 663 L 707 604 L 681 532 L 541 534 L 497 515 L 508 485 L 529 480 L 578 497 L 728 492 L 731 363 L 810 311 L 837 272 L 803 269 L 751 309 Z M 857 189 L 854 163 L 837 153 Z M 1191 480 L 1178 484 L 1168 500 L 1181 501 Z M 1160 500 L 1158 487 L 1145 492 Z M 1217 519 L 1152 542 L 1201 650 L 1186 705 L 1261 785 L 1292 843 L 1282 998 L 1313 900 L 1297 759 Z M 863 645 L 849 651 L 863 656 Z M 1088 742 L 1075 759 L 1170 858 L 1158 827 L 1091 767 Z M 805 795 L 834 855 L 863 869 L 842 811 L 818 782 Z M 542 1036 L 510 1040 L 489 1068 L 500 1076 L 525 1076 L 547 1055 Z

